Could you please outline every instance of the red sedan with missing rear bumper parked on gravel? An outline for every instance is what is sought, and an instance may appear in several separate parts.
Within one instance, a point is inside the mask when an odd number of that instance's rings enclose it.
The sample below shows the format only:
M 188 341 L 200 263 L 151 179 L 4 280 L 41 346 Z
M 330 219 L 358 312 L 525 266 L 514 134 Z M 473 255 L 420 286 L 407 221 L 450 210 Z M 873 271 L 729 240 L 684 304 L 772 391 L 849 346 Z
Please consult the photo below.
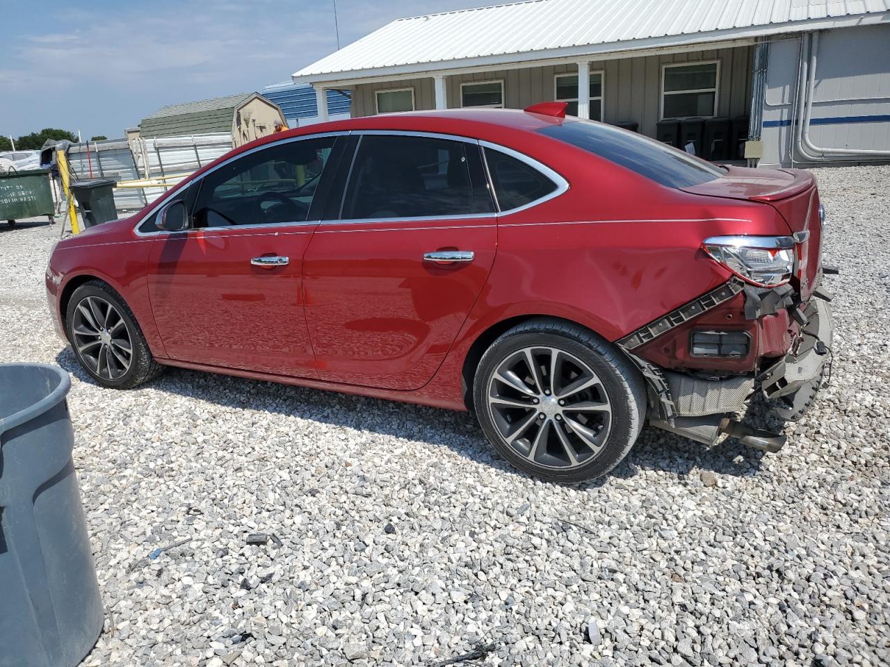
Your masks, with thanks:
M 611 470 L 647 420 L 773 451 L 828 358 L 805 172 L 710 165 L 564 105 L 354 118 L 233 150 L 61 241 L 86 372 L 165 366 L 472 410 L 542 478 Z M 825 267 L 825 272 L 830 272 Z

